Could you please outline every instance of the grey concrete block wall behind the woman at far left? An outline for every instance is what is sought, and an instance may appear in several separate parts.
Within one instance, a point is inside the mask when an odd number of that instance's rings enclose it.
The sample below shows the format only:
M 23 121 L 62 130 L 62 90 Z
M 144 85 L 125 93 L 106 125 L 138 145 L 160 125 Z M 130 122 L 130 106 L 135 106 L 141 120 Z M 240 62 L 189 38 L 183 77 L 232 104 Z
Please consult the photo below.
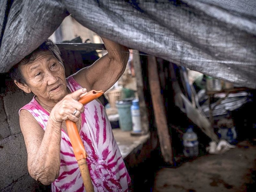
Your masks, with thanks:
M 18 114 L 33 94 L 19 90 L 5 74 L 0 79 L 0 191 L 35 191 L 40 184 L 28 174 L 27 150 Z

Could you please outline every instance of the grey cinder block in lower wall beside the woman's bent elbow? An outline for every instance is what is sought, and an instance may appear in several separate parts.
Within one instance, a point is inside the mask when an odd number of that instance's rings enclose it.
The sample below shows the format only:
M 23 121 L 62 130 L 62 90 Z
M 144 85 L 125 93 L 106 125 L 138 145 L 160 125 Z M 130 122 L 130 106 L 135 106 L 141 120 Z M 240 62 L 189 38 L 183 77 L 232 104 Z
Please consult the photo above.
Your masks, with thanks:
M 27 149 L 22 133 L 0 141 L 0 162 L 0 191 L 28 174 Z

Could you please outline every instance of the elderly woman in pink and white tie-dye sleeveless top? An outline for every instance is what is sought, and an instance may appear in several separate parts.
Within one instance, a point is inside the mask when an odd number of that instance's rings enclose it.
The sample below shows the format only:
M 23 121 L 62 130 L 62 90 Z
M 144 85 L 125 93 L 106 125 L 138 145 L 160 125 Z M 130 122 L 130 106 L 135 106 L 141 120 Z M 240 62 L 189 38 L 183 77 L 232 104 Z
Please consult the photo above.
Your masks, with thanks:
M 58 47 L 45 41 L 12 68 L 15 84 L 33 99 L 19 111 L 28 172 L 52 191 L 85 191 L 65 120 L 77 128 L 88 154 L 95 191 L 128 191 L 130 177 L 103 105 L 78 102 L 90 90 L 108 90 L 123 74 L 129 50 L 102 38 L 108 54 L 65 77 Z

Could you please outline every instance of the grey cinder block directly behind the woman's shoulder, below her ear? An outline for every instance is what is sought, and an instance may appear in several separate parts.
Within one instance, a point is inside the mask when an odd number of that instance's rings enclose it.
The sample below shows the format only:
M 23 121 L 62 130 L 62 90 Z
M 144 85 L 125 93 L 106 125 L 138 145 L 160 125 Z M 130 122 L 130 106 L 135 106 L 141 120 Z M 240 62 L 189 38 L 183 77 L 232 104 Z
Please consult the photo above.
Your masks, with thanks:
M 20 133 L 19 109 L 29 103 L 33 98 L 33 94 L 25 93 L 22 90 L 15 92 L 7 92 L 3 97 L 4 110 L 7 115 L 7 122 L 9 124 L 11 134 Z

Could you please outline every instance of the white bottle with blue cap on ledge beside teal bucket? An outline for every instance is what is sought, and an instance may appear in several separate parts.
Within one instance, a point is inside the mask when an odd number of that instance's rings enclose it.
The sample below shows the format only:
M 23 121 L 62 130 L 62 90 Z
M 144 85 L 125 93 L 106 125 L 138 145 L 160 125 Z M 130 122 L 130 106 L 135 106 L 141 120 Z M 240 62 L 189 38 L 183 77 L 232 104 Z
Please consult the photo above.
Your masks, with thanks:
M 139 106 L 138 99 L 132 100 L 131 114 L 132 114 L 132 131 L 141 132 L 140 106 Z

